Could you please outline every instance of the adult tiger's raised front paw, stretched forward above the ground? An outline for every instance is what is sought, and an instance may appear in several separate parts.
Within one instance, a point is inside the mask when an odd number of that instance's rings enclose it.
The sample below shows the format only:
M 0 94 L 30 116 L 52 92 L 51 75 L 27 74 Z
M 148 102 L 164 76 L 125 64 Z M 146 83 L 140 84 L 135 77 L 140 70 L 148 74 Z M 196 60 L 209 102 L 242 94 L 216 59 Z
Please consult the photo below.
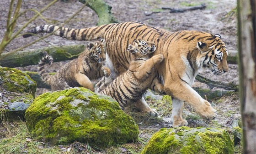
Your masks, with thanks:
M 197 113 L 206 120 L 213 120 L 217 117 L 217 111 L 213 109 L 211 104 L 206 100 L 202 106 L 198 107 Z

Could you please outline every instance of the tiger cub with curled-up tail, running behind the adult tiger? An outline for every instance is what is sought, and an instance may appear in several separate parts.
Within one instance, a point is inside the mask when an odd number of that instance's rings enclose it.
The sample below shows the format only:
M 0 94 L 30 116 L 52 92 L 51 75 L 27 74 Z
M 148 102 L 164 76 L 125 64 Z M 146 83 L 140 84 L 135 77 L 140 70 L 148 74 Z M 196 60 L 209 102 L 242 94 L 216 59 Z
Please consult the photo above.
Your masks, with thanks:
M 43 81 L 50 84 L 52 90 L 82 86 L 95 91 L 91 80 L 102 76 L 108 77 L 111 72 L 108 67 L 102 64 L 106 59 L 104 43 L 104 39 L 90 42 L 77 59 L 65 64 L 55 75 L 48 75 L 44 69 L 47 61 L 49 61 L 49 65 L 53 62 L 53 57 L 46 55 L 39 61 L 39 71 Z

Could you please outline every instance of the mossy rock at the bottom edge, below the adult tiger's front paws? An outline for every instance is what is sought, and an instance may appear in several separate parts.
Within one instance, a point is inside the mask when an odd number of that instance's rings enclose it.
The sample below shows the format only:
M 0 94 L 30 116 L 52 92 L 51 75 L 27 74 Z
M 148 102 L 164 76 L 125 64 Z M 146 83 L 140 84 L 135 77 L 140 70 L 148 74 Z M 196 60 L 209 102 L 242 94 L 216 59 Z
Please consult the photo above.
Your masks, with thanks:
M 234 154 L 227 131 L 213 128 L 160 129 L 141 154 Z

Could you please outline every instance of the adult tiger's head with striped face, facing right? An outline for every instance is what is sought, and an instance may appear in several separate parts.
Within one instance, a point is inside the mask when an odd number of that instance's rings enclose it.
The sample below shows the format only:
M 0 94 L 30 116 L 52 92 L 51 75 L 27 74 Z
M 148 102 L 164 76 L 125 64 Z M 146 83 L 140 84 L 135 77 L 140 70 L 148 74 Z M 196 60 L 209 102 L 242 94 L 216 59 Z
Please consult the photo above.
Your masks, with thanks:
M 201 57 L 197 59 L 198 68 L 203 64 L 203 68 L 212 70 L 214 75 L 220 75 L 229 70 L 227 56 L 228 51 L 219 34 L 212 38 L 206 38 L 197 42 L 197 49 L 201 52 Z

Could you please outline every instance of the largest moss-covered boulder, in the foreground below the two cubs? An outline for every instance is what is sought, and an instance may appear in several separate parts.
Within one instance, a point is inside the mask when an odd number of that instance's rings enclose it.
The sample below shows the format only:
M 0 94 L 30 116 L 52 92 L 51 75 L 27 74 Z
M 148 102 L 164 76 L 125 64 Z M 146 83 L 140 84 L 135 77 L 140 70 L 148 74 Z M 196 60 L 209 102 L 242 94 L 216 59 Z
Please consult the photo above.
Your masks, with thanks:
M 38 96 L 25 118 L 37 139 L 52 144 L 78 141 L 104 148 L 134 142 L 139 134 L 138 125 L 116 101 L 82 87 Z

